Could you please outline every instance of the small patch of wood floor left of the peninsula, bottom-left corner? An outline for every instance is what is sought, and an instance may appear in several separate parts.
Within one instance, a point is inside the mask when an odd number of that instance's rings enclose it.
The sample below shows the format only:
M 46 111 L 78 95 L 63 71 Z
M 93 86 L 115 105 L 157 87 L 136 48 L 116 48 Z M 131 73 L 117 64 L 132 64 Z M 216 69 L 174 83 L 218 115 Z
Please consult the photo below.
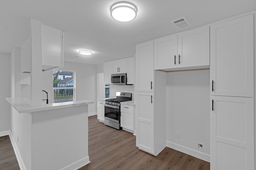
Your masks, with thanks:
M 9 136 L 0 137 L 0 170 L 19 170 Z

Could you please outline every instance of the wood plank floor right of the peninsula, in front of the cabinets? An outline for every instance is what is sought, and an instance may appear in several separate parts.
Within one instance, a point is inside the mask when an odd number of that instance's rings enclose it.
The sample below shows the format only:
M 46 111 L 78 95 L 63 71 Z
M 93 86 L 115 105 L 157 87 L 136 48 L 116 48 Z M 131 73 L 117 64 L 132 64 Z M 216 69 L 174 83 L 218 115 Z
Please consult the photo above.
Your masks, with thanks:
M 166 147 L 152 156 L 136 147 L 136 137 L 88 117 L 90 164 L 79 170 L 210 170 L 210 163 Z

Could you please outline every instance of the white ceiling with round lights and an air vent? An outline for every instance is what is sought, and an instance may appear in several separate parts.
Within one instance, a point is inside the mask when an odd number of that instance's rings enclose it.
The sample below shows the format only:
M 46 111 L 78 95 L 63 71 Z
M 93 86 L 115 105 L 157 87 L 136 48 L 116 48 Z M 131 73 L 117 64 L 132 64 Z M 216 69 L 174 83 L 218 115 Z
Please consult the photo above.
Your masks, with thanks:
M 0 52 L 10 53 L 29 36 L 29 19 L 64 32 L 64 61 L 102 64 L 131 57 L 135 45 L 256 10 L 256 0 L 129 0 L 138 8 L 130 22 L 111 18 L 119 0 L 1 0 Z M 185 16 L 190 26 L 170 21 Z M 89 57 L 79 49 L 93 51 Z

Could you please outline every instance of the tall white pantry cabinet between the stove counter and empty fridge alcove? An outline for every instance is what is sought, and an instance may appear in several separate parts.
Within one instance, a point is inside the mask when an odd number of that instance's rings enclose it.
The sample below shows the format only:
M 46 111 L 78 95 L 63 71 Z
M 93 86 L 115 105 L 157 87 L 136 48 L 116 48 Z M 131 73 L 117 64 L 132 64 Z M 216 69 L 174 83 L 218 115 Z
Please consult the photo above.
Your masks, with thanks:
M 153 155 L 166 146 L 166 72 L 154 71 L 154 41 L 136 45 L 136 146 Z

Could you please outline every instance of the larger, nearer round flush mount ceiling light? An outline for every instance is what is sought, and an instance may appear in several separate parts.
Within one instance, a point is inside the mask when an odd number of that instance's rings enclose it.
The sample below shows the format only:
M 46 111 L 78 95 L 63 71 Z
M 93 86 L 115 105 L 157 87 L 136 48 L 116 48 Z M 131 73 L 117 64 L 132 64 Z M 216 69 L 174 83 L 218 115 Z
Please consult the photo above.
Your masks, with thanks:
M 117 21 L 132 21 L 137 16 L 137 7 L 126 1 L 116 2 L 110 7 L 110 14 Z

